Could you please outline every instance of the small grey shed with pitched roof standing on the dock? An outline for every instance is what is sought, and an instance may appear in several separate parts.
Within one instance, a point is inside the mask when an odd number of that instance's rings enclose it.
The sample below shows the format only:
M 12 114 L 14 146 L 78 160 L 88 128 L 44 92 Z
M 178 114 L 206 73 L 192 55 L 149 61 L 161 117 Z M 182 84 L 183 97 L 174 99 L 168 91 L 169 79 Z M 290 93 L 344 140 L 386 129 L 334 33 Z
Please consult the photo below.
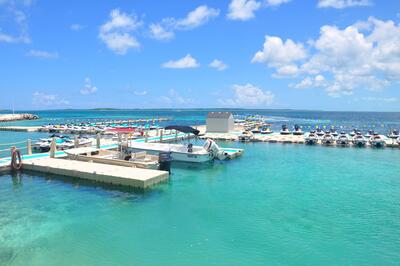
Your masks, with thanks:
M 206 125 L 207 132 L 226 133 L 234 130 L 235 122 L 230 112 L 209 112 Z

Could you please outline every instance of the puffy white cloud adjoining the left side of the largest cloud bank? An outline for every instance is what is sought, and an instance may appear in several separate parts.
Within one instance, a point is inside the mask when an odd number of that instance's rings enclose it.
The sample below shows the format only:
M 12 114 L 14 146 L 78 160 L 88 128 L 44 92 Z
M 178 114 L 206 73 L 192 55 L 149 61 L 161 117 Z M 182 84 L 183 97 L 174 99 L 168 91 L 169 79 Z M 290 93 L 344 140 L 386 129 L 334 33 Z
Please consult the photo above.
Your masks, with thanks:
M 307 52 L 301 43 L 295 43 L 291 39 L 283 42 L 275 36 L 265 36 L 263 50 L 258 51 L 251 60 L 252 63 L 265 63 L 269 67 L 278 69 L 278 76 L 292 76 L 297 74 L 298 68 L 295 62 L 306 58 Z

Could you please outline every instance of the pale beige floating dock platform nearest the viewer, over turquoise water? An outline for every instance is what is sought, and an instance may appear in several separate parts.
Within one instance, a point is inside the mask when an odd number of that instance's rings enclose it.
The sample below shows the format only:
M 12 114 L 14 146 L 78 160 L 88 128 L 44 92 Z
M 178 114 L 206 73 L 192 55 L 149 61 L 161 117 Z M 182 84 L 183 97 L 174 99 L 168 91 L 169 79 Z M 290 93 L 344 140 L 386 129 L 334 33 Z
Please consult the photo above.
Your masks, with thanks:
M 112 185 L 146 189 L 168 180 L 166 171 L 131 168 L 60 158 L 42 158 L 23 162 L 23 168 L 49 174 L 77 177 Z

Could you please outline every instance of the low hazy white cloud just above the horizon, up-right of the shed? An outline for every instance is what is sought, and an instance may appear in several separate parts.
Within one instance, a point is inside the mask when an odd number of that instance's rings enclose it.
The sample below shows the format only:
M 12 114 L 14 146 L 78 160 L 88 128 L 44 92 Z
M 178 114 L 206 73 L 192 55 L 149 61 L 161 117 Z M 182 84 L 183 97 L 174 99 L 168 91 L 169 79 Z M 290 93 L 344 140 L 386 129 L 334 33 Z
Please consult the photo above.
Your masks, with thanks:
M 263 91 L 261 88 L 250 83 L 244 85 L 233 85 L 235 96 L 233 99 L 220 99 L 223 105 L 238 107 L 262 107 L 271 105 L 275 95 L 271 91 Z

